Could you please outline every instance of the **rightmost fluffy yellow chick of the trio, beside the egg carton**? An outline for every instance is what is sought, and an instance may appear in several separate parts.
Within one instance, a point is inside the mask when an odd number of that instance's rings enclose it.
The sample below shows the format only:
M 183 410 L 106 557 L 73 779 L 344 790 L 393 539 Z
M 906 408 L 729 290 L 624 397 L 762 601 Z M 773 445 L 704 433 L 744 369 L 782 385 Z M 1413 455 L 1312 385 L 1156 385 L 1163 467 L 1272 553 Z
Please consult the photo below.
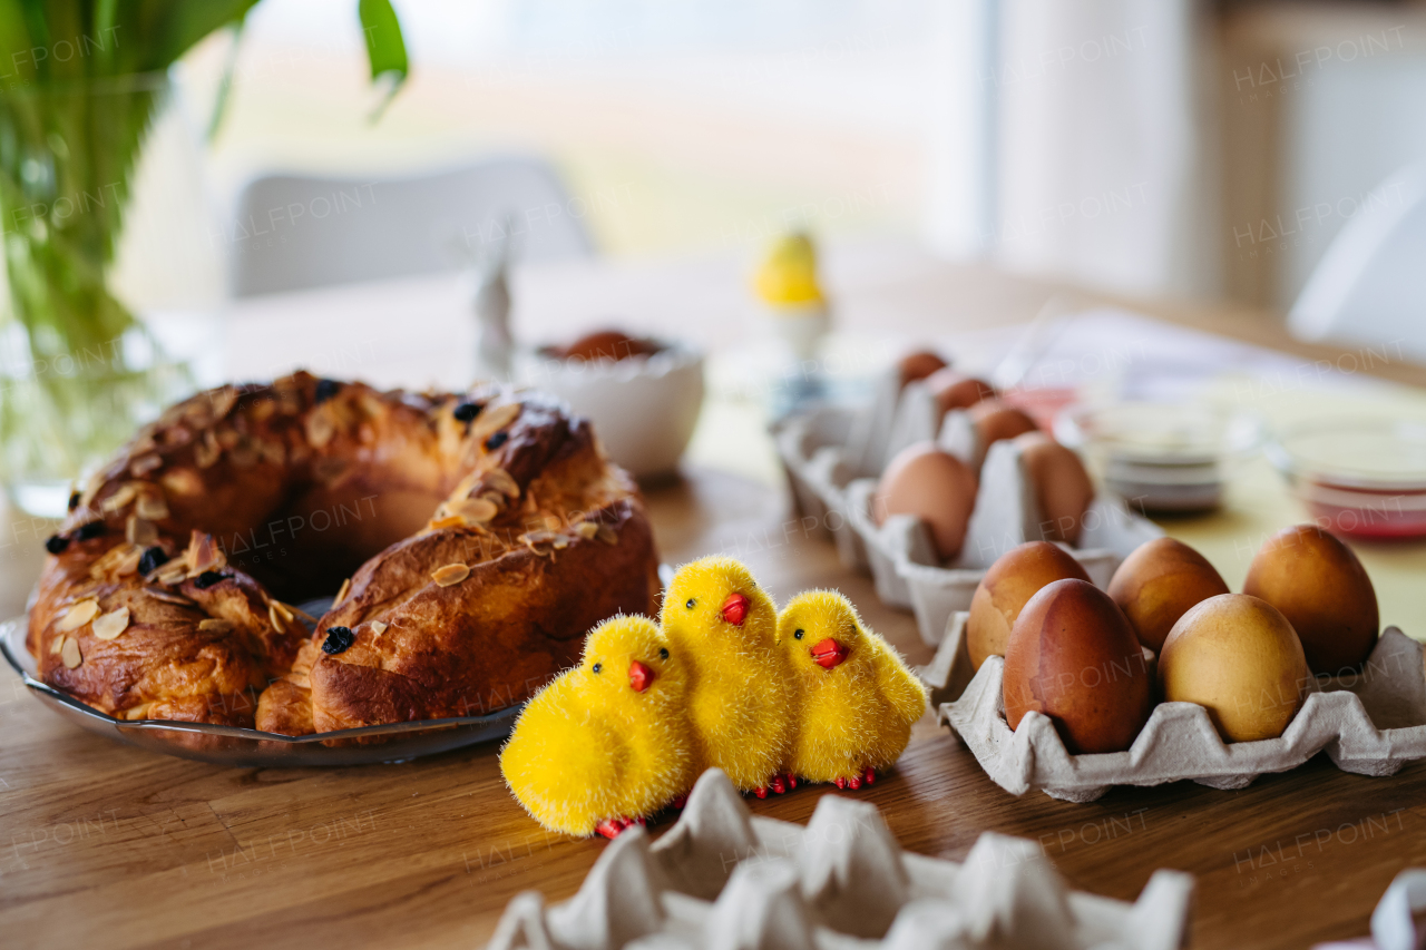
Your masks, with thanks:
M 796 692 L 787 770 L 841 789 L 874 782 L 911 740 L 925 686 L 836 591 L 793 598 L 777 618 L 777 645 Z

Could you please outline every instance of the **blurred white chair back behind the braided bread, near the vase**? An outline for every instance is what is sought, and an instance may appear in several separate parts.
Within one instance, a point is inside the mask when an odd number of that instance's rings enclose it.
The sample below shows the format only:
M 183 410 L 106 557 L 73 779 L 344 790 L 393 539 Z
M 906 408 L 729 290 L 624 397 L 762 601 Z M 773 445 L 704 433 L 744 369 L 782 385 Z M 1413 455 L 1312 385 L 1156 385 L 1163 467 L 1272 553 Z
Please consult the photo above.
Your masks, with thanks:
M 593 204 L 525 157 L 416 178 L 257 178 L 224 234 L 232 294 L 461 270 L 506 237 L 522 261 L 585 257 Z

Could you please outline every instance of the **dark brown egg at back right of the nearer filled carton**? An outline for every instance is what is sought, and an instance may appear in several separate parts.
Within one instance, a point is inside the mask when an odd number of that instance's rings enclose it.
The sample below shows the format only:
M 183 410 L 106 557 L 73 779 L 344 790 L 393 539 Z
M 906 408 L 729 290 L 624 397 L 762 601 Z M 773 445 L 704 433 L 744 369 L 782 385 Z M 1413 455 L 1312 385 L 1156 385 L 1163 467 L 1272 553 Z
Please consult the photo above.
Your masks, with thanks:
M 1283 528 L 1248 566 L 1243 593 L 1282 611 L 1313 673 L 1359 668 L 1376 646 L 1380 616 L 1366 568 L 1336 535 L 1316 525 Z

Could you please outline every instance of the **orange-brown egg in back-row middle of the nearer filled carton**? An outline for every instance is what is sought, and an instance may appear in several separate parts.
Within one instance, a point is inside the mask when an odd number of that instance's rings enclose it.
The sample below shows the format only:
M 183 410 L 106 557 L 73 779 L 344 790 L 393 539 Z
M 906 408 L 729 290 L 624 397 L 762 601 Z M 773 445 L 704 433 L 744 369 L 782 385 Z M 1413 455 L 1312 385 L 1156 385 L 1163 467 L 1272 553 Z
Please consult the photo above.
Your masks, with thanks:
M 1228 585 L 1182 541 L 1155 538 L 1134 549 L 1109 581 L 1109 596 L 1139 635 L 1158 652 L 1178 618 L 1195 603 L 1228 593 Z

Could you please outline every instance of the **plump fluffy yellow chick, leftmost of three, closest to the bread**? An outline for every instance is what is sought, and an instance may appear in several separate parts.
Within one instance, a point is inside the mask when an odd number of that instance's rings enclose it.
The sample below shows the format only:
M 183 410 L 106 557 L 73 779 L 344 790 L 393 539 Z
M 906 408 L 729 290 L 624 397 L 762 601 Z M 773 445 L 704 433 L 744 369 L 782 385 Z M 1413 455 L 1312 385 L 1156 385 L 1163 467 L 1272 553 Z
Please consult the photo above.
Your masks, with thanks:
M 579 666 L 542 689 L 501 749 L 511 792 L 536 822 L 613 837 L 697 779 L 687 665 L 649 618 L 616 616 Z

